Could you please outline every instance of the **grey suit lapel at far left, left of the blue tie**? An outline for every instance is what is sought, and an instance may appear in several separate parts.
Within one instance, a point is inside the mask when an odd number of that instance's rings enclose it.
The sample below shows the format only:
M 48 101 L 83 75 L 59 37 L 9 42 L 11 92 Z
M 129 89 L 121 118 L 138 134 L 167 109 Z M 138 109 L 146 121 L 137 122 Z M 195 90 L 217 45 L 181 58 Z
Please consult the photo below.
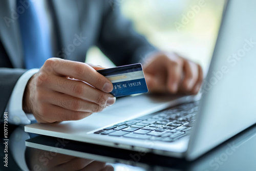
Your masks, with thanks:
M 18 15 L 14 12 L 16 9 L 16 1 L 2 1 L 1 6 L 0 16 L 4 16 L 4 18 L 0 19 L 0 38 L 10 57 L 13 67 L 23 68 L 23 50 L 18 29 Z

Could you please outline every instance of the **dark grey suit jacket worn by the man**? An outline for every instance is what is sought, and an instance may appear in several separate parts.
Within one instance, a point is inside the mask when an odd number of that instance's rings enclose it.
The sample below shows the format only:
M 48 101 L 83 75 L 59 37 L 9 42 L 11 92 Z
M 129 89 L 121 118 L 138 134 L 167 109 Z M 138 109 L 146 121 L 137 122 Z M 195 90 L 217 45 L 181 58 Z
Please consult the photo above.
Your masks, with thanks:
M 14 4 L 15 0 L 4 0 L 0 7 L 0 115 L 16 81 L 26 72 Z M 48 4 L 57 40 L 56 57 L 83 62 L 87 50 L 96 45 L 120 66 L 138 62 L 140 56 L 155 50 L 120 15 L 114 0 L 48 0 Z M 73 43 L 75 34 L 87 38 L 67 55 L 62 48 Z

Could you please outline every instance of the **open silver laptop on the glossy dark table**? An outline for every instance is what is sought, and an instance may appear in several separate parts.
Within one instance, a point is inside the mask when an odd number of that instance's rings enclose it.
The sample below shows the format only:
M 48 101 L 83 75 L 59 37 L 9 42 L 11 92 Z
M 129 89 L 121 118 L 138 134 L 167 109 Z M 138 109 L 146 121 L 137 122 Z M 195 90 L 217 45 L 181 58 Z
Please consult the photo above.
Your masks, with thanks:
M 25 131 L 193 160 L 256 123 L 256 1 L 228 1 L 200 95 L 123 97 L 79 121 Z M 199 100 L 200 99 L 200 100 Z

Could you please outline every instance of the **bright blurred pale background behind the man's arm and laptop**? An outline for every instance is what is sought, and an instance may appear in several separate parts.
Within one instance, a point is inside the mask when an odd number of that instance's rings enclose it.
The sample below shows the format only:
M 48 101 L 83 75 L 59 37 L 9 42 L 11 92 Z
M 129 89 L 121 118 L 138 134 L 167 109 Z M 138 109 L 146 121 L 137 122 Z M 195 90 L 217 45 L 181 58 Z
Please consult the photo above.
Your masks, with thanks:
M 110 0 L 113 10 L 130 18 L 134 28 L 152 45 L 175 51 L 200 63 L 207 71 L 220 27 L 224 0 Z M 115 3 L 115 4 L 114 4 Z M 113 63 L 92 47 L 88 63 L 113 67 Z

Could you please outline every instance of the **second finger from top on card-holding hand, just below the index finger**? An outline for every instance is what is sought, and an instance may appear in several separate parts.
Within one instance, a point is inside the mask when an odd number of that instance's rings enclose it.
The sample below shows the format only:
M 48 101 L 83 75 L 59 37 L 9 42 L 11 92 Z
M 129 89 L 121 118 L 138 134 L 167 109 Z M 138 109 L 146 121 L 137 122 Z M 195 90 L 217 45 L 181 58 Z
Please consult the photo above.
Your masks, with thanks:
M 99 105 L 112 105 L 116 101 L 116 98 L 110 93 L 104 93 L 80 80 L 52 76 L 46 79 L 44 83 L 42 83 L 42 86 L 46 86 L 48 89 L 56 92 L 88 100 Z

